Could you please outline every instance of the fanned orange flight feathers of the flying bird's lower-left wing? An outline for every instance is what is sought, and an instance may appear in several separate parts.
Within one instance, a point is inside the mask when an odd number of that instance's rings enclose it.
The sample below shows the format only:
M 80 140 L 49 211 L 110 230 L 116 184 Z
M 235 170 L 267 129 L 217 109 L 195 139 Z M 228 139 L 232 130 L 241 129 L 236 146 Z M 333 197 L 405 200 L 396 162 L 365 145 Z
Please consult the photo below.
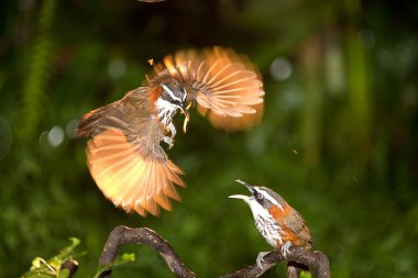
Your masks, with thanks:
M 123 119 L 120 115 L 119 122 Z M 109 120 L 99 119 L 99 126 L 100 121 Z M 90 174 L 114 205 L 143 216 L 147 212 L 158 215 L 160 207 L 172 210 L 169 199 L 180 200 L 175 186 L 185 186 L 179 178 L 183 171 L 162 153 L 158 143 L 127 136 L 118 129 L 105 129 L 87 143 Z

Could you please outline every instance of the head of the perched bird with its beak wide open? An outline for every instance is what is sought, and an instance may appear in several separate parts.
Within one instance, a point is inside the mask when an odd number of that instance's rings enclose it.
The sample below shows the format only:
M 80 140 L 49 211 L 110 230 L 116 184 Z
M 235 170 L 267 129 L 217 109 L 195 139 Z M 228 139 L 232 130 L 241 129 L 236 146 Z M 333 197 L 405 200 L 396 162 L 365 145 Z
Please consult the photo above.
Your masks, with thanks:
M 284 211 L 286 201 L 272 189 L 266 187 L 252 186 L 241 179 L 238 179 L 235 181 L 244 185 L 250 190 L 251 196 L 232 194 L 229 198 L 241 199 L 246 202 L 250 205 L 254 216 L 266 213 L 271 208 L 275 205 L 279 210 Z

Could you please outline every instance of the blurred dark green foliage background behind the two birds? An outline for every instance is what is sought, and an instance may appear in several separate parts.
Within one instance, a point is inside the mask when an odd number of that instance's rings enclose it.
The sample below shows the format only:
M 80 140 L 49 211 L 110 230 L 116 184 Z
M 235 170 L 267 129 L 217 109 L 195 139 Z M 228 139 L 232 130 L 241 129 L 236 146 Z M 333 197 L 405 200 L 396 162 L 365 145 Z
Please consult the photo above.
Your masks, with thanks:
M 0 15 L 0 277 L 69 236 L 88 252 L 78 277 L 91 275 L 119 224 L 155 230 L 198 276 L 241 268 L 270 246 L 227 199 L 245 191 L 237 178 L 305 216 L 334 277 L 418 276 L 417 2 L 19 0 Z M 211 45 L 258 65 L 262 124 L 227 134 L 193 112 L 168 151 L 184 201 L 157 219 L 116 209 L 89 176 L 77 120 L 140 86 L 148 58 Z M 173 277 L 151 248 L 122 252 L 138 259 L 114 277 Z

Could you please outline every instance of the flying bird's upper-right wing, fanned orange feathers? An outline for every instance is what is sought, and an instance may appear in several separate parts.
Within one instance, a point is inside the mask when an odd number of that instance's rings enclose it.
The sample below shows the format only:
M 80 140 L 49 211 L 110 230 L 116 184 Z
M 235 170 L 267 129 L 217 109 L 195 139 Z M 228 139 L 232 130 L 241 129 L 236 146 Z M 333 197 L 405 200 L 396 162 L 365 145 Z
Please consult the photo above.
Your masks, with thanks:
M 252 63 L 232 49 L 193 49 L 168 55 L 154 67 L 148 84 L 170 76 L 182 81 L 200 114 L 216 126 L 237 131 L 253 126 L 263 116 L 263 82 Z

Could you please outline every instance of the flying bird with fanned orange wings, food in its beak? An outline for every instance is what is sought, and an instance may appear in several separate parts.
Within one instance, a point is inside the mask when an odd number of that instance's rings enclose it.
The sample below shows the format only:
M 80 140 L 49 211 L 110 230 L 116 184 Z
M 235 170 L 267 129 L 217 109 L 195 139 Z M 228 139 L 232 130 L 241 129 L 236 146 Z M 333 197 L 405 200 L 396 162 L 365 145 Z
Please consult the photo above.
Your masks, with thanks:
M 173 116 L 196 104 L 216 127 L 245 130 L 263 114 L 263 82 L 255 67 L 232 49 L 180 51 L 154 66 L 139 87 L 80 120 L 76 133 L 91 137 L 87 159 L 96 184 L 117 207 L 157 215 L 179 200 L 183 171 L 161 142 L 174 145 Z

